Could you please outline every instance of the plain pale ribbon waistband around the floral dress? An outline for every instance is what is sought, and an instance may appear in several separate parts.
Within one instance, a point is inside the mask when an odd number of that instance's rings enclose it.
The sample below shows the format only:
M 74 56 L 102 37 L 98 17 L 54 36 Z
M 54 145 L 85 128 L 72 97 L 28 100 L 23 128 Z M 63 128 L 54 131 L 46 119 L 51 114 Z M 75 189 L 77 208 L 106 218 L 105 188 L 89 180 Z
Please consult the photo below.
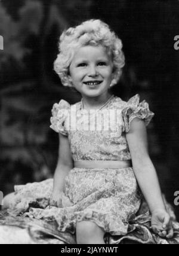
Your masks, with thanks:
M 127 168 L 132 167 L 131 160 L 79 160 L 74 161 L 76 168 Z

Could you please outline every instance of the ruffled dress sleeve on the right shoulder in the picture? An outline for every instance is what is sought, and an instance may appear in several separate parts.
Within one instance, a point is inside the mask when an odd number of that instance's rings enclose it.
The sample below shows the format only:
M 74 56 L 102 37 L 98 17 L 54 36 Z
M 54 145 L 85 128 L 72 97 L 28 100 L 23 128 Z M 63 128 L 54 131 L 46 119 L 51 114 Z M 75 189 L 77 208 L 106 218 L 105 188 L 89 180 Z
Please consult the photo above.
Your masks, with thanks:
M 155 114 L 150 111 L 149 104 L 146 102 L 146 100 L 140 102 L 140 96 L 138 94 L 131 97 L 131 99 L 126 102 L 125 108 L 122 109 L 123 132 L 129 132 L 131 121 L 135 117 L 144 120 L 147 126 L 154 115 Z

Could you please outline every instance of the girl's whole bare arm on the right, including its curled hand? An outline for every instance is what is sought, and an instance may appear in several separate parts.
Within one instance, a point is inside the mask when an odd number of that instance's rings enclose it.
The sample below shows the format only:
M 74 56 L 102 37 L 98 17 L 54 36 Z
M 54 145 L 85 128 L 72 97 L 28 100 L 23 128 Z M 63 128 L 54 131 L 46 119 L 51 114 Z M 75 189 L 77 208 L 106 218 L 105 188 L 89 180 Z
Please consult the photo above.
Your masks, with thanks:
M 153 231 L 160 236 L 166 236 L 166 231 L 160 231 L 162 228 L 165 229 L 166 227 L 166 229 L 168 229 L 168 235 L 166 237 L 171 238 L 173 234 L 172 224 L 163 203 L 162 192 L 155 167 L 149 157 L 147 130 L 143 120 L 134 118 L 134 120 L 131 121 L 130 130 L 126 133 L 126 139 L 138 185 L 152 213 Z M 162 228 L 159 228 L 159 224 L 161 224 Z

